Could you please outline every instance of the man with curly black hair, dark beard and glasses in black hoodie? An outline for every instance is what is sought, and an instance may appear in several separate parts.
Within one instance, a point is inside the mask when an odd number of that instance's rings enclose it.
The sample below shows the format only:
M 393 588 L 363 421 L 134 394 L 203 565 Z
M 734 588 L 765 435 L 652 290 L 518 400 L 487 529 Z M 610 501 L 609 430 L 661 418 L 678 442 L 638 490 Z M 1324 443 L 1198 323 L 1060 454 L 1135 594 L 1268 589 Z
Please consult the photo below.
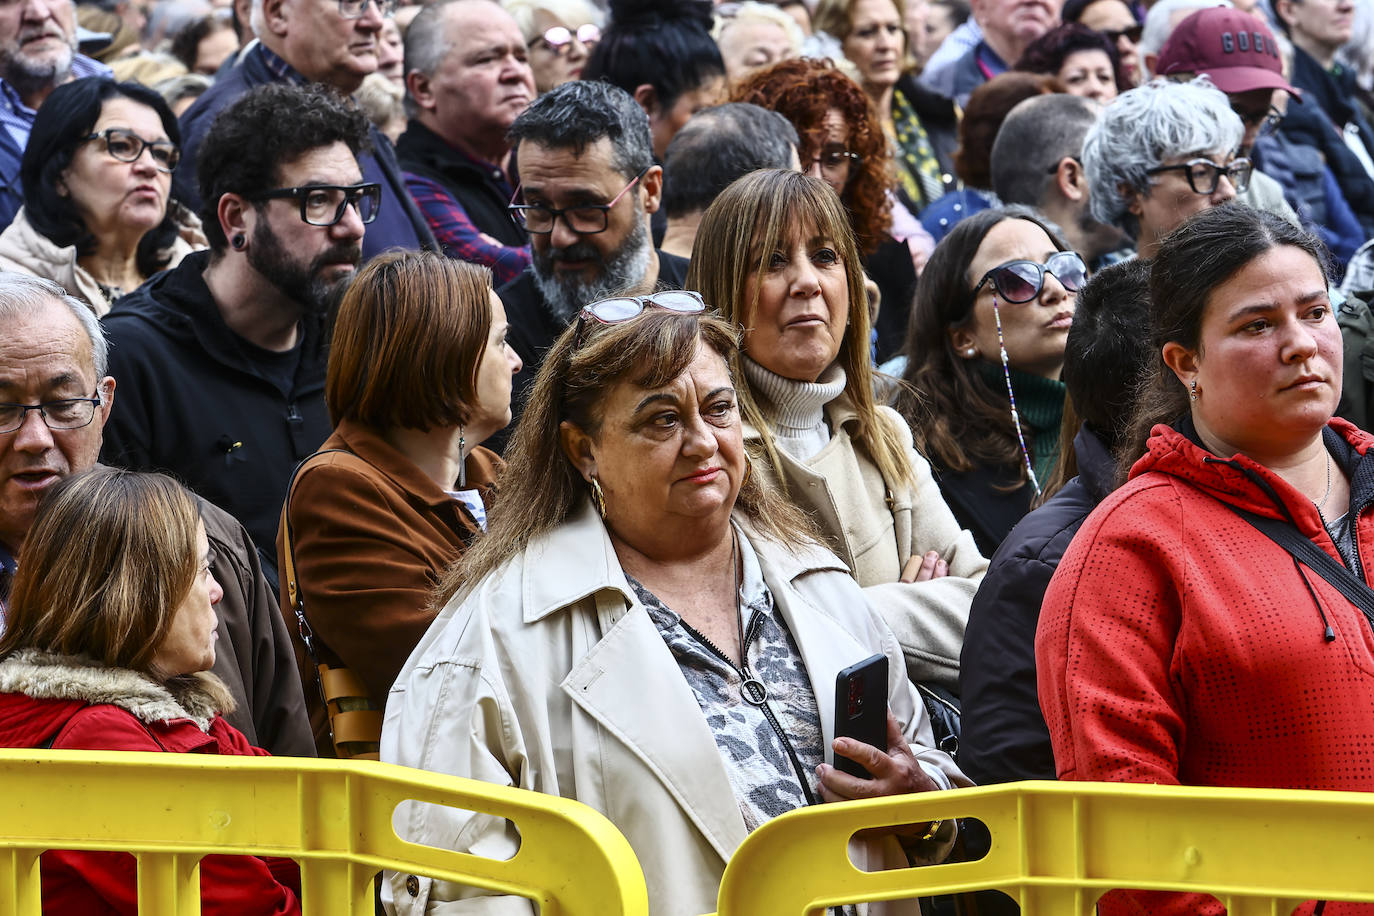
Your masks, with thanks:
M 328 316 L 379 202 L 357 162 L 367 136 L 327 89 L 242 96 L 201 146 L 210 250 L 104 317 L 121 397 L 102 460 L 184 481 L 243 523 L 264 569 L 291 470 L 330 434 Z

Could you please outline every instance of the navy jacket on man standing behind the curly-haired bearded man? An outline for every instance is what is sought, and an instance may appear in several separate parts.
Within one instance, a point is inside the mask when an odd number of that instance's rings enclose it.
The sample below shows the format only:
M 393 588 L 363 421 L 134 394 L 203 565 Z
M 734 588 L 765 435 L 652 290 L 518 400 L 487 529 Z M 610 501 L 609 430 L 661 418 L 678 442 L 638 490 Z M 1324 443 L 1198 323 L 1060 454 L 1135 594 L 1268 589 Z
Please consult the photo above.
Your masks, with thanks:
M 202 211 L 195 159 L 214 115 L 249 89 L 276 81 L 276 74 L 268 69 L 262 58 L 261 45 L 254 45 L 243 54 L 234 69 L 221 73 L 214 85 L 181 115 L 181 163 L 172 177 L 172 188 L 176 199 L 201 213 L 202 220 L 209 221 L 216 217 L 213 213 Z M 371 139 L 372 151 L 360 155 L 357 163 L 363 169 L 364 181 L 376 181 L 382 185 L 382 207 L 363 236 L 363 260 L 367 261 L 387 249 L 437 249 L 429 222 L 405 190 L 392 141 L 375 126 L 371 128 Z

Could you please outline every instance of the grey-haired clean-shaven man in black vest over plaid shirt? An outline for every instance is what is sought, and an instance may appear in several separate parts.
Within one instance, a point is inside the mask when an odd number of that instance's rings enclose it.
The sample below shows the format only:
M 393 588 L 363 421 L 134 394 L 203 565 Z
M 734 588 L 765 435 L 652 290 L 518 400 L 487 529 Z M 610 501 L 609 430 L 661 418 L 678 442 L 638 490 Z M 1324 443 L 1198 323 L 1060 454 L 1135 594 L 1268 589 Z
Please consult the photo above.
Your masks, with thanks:
M 496 286 L 529 264 L 529 236 L 506 210 L 506 132 L 533 98 L 525 38 L 492 0 L 425 7 L 405 32 L 405 187 L 444 253 L 485 264 Z

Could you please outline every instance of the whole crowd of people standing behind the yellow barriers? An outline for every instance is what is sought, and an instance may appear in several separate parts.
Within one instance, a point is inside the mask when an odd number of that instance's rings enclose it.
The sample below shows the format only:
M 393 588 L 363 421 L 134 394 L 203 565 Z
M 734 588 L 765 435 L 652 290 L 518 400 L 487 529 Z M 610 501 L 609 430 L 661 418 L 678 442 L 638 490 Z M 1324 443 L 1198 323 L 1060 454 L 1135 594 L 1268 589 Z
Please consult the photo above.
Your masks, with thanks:
M 15 0 L 0 99 L 0 746 L 573 798 L 683 916 L 807 805 L 1374 791 L 1370 0 Z

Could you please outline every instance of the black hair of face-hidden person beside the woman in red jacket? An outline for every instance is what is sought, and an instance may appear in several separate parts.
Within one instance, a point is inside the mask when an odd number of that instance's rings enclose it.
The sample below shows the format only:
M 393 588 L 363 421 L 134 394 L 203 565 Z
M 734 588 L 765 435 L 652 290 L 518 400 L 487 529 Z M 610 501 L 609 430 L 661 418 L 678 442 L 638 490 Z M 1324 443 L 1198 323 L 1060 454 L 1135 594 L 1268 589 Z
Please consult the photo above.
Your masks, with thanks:
M 1116 452 L 1150 363 L 1150 264 L 1102 268 L 1079 290 L 1063 347 L 1063 383 L 1079 417 Z

